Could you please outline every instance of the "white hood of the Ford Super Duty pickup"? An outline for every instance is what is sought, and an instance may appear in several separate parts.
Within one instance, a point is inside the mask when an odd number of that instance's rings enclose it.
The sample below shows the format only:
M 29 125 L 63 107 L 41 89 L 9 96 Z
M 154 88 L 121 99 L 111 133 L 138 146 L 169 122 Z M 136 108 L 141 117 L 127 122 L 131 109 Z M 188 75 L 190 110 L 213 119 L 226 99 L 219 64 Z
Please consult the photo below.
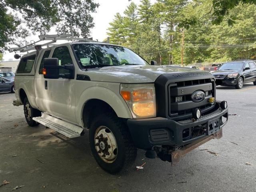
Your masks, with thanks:
M 120 83 L 147 83 L 154 82 L 162 74 L 186 74 L 194 72 L 202 75 L 208 72 L 183 67 L 164 66 L 109 66 L 100 69 L 88 69 L 81 74 L 87 75 L 92 81 L 120 82 Z M 79 72 L 78 72 L 79 74 Z

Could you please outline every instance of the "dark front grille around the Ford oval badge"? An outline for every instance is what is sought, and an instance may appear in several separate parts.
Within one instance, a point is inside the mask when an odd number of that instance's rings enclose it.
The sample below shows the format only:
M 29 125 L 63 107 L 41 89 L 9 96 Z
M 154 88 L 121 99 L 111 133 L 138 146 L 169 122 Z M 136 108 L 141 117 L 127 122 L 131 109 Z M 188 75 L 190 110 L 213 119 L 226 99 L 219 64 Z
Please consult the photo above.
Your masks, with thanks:
M 200 102 L 192 101 L 192 93 L 202 91 L 205 98 Z M 185 119 L 192 116 L 192 110 L 199 108 L 202 114 L 212 109 L 214 105 L 208 99 L 215 97 L 214 79 L 189 80 L 168 84 L 169 116 L 171 118 Z M 182 100 L 175 99 L 182 97 Z

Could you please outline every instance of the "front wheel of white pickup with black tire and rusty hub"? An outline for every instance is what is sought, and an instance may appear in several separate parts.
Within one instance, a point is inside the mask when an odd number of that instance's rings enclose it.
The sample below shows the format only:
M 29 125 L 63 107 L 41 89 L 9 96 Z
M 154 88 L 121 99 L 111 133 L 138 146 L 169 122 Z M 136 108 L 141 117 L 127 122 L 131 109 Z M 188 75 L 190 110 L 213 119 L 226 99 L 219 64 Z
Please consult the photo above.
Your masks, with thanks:
M 137 148 L 126 125 L 112 113 L 92 120 L 89 140 L 96 162 L 110 174 L 129 168 L 136 159 Z

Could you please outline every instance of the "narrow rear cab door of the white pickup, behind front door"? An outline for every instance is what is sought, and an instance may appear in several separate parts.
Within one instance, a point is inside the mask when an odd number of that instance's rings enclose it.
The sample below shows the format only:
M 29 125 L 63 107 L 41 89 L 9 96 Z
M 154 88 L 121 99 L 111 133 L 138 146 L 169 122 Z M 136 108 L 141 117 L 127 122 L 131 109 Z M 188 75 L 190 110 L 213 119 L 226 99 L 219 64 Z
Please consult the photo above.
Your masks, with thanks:
M 44 64 L 44 58 L 48 58 L 50 56 L 51 50 L 44 50 L 44 52 L 41 54 L 38 66 L 35 74 L 35 94 L 36 94 L 36 105 L 42 112 L 46 112 L 46 99 L 44 94 L 44 84 L 45 79 L 44 75 L 42 74 L 43 64 Z

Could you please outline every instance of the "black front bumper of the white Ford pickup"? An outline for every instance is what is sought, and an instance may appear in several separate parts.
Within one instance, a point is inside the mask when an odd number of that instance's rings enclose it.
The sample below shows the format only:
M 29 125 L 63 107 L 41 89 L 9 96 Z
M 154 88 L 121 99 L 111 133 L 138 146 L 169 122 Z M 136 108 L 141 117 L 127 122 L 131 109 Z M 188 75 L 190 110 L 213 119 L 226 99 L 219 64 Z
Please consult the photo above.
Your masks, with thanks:
M 222 117 L 226 121 L 222 121 Z M 228 108 L 223 110 L 216 102 L 215 108 L 199 120 L 174 121 L 156 117 L 128 119 L 127 124 L 137 148 L 150 150 L 153 146 L 184 146 L 218 132 L 228 122 Z M 216 124 L 216 126 L 215 126 Z M 202 135 L 192 136 L 194 130 L 204 129 Z

